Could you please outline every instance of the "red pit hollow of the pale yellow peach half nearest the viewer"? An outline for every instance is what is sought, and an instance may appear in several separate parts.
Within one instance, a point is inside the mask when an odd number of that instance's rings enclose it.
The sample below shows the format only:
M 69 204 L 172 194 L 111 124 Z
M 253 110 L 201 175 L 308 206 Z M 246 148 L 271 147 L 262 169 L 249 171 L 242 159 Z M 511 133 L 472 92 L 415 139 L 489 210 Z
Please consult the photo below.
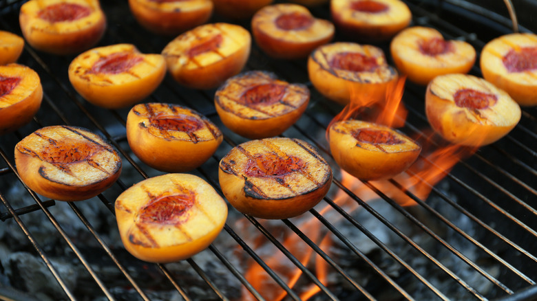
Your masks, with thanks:
M 196 194 L 172 194 L 151 200 L 142 208 L 138 219 L 143 223 L 174 225 L 181 222 L 181 216 L 196 202 Z

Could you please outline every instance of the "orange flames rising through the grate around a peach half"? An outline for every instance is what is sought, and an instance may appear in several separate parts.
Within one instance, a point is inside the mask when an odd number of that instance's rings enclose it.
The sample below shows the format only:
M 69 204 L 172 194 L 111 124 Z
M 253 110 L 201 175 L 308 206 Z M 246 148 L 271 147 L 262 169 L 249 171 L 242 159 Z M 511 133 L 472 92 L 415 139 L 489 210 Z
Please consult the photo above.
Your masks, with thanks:
M 354 98 L 352 98 L 353 101 L 332 120 L 330 125 L 340 120 L 360 117 L 370 122 L 387 126 L 403 126 L 408 113 L 401 102 L 404 82 L 405 78 L 402 78 L 392 85 L 391 89 L 388 89 L 386 93 L 386 102 L 383 103 L 372 103 L 368 99 L 361 99 L 359 93 L 355 93 Z M 328 140 L 328 131 L 326 133 Z M 393 179 L 366 182 L 356 179 L 341 170 L 341 184 L 362 201 L 379 199 L 381 197 L 379 194 L 383 194 L 401 206 L 416 205 L 417 203 L 413 197 L 423 201 L 427 199 L 436 183 L 441 181 L 456 163 L 465 157 L 469 157 L 477 149 L 447 144 L 437 138 L 438 136 L 434 135 L 434 133 L 422 133 L 419 137 L 414 137 L 414 140 L 421 144 L 422 153 L 406 172 L 402 172 Z M 410 195 L 413 197 L 410 197 Z M 349 213 L 359 208 L 357 202 L 352 200 L 344 190 L 338 190 L 333 200 Z M 319 213 L 323 216 L 336 216 L 335 221 L 342 218 L 337 213 L 332 214 L 333 212 L 335 210 L 330 205 L 319 210 Z M 332 244 L 332 236 L 318 219 L 315 217 L 306 219 L 304 216 L 302 216 L 302 219 L 297 220 L 295 224 L 313 243 L 328 253 Z M 334 219 L 331 222 L 333 223 Z M 299 298 L 308 300 L 321 291 L 315 283 L 309 283 L 310 281 L 302 276 L 302 271 L 291 263 L 282 252 L 275 249 L 274 245 L 265 245 L 271 248 L 271 251 L 267 253 L 271 255 L 268 260 L 264 260 L 265 263 L 286 281 L 288 287 L 297 292 Z M 327 284 L 330 266 L 324 258 L 315 254 L 313 249 L 302 238 L 294 233 L 287 234 L 282 245 L 307 269 L 313 269 L 317 279 L 323 285 Z M 330 256 L 330 254 L 328 255 Z M 287 296 L 286 291 L 277 285 L 260 265 L 251 265 L 246 272 L 246 279 L 267 300 L 282 300 Z M 245 291 L 243 298 L 248 300 L 249 297 L 251 295 Z

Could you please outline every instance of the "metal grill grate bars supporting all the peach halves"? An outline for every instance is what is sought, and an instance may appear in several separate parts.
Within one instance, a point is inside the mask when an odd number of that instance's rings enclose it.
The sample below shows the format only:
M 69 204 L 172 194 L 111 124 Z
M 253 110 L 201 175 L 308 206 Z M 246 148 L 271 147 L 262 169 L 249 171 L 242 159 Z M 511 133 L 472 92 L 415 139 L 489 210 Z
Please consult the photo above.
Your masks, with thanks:
M 22 2 L 0 1 L 1 30 L 21 34 L 17 16 Z M 142 52 L 157 53 L 167 43 L 167 38 L 151 36 L 141 30 L 129 15 L 123 1 L 104 2 L 103 9 L 107 13 L 109 28 L 101 45 L 134 43 Z M 457 0 L 425 2 L 408 1 L 414 15 L 414 24 L 436 27 L 447 38 L 463 38 L 478 50 L 488 41 L 488 36 L 492 38 L 512 30 L 509 19 L 471 3 Z M 326 7 L 317 8 L 313 10 L 313 13 L 327 18 L 326 10 Z M 472 26 L 474 23 L 477 24 L 476 27 Z M 492 27 L 487 27 L 491 23 Z M 241 25 L 249 27 L 246 23 Z M 479 25 L 485 25 L 485 28 L 489 29 L 477 33 L 468 31 L 474 28 L 479 29 L 481 27 Z M 518 28 L 520 31 L 528 31 L 523 26 Z M 386 52 L 387 45 L 383 47 Z M 94 129 L 103 133 L 120 151 L 124 165 L 123 175 L 113 188 L 98 196 L 105 208 L 103 211 L 107 212 L 107 216 L 103 219 L 113 217 L 114 199 L 121 191 L 144 178 L 158 175 L 155 170 L 138 162 L 128 148 L 125 137 L 125 118 L 128 109 L 115 111 L 99 109 L 87 104 L 76 95 L 67 80 L 66 70 L 71 59 L 71 57 L 56 57 L 35 52 L 27 46 L 19 60 L 20 63 L 38 71 L 45 93 L 41 110 L 31 124 L 13 134 L 0 137 L 2 157 L 0 160 L 0 201 L 3 204 L 3 208 L 0 206 L 0 219 L 6 225 L 10 224 L 21 230 L 28 238 L 31 252 L 41 257 L 50 270 L 50 276 L 59 282 L 61 289 L 65 292 L 64 298 L 66 299 L 85 298 L 80 293 L 81 289 L 73 289 L 67 283 L 68 279 L 61 276 L 59 268 L 51 258 L 50 247 L 43 247 L 45 243 L 39 236 L 39 232 L 27 225 L 31 222 L 32 216 L 44 215 L 45 219 L 48 219 L 54 228 L 56 241 L 67 248 L 70 256 L 83 266 L 92 280 L 89 287 L 94 291 L 99 291 L 98 296 L 110 300 L 129 299 L 120 296 L 120 293 L 116 292 L 116 287 L 105 279 L 102 268 L 106 266 L 118 270 L 123 277 L 120 280 L 123 287 L 134 291 L 136 298 L 141 300 L 153 298 L 152 292 L 155 289 L 147 285 L 145 279 L 155 278 L 156 276 L 151 274 L 155 271 L 159 274 L 158 278 L 166 282 L 161 284 L 161 287 L 176 291 L 185 300 L 195 300 L 199 295 L 189 285 L 193 280 L 177 274 L 174 272 L 175 269 L 172 271 L 171 264 L 147 267 L 128 255 L 125 256 L 122 249 L 113 247 L 114 242 L 104 237 L 109 231 L 94 225 L 87 217 L 87 209 L 83 208 L 84 203 L 98 201 L 63 203 L 42 200 L 32 190 L 28 190 L 21 184 L 14 169 L 12 155 L 14 144 L 32 131 L 52 124 L 74 124 Z M 264 56 L 255 45 L 253 45 L 247 69 L 268 69 L 284 80 L 304 82 L 312 88 L 308 82 L 305 61 L 272 60 Z M 477 67 L 474 67 L 472 74 L 479 75 Z M 304 117 L 284 135 L 313 142 L 321 150 L 322 155 L 329 158 L 330 152 L 324 139 L 324 132 L 330 120 L 341 111 L 341 107 L 319 96 L 313 88 L 311 90 L 312 98 Z M 409 117 L 403 131 L 408 135 L 427 135 L 423 131 L 427 126 L 423 112 L 423 96 L 423 87 L 411 83 L 406 85 L 403 99 L 409 109 Z M 229 149 L 245 140 L 228 131 L 220 123 L 212 105 L 213 91 L 192 91 L 178 87 L 171 78 L 167 77 L 162 86 L 148 100 L 176 102 L 191 107 L 206 115 L 222 129 L 224 143 L 204 166 L 194 171 L 221 192 L 216 173 L 218 161 Z M 249 261 L 257 263 L 262 273 L 271 279 L 273 285 L 280 287 L 286 292 L 286 298 L 292 300 L 304 298 L 300 288 L 306 286 L 317 287 L 319 292 L 315 293 L 313 297 L 315 300 L 412 300 L 432 297 L 443 300 L 475 298 L 530 300 L 537 298 L 537 286 L 535 286 L 537 279 L 537 244 L 535 243 L 537 237 L 537 210 L 535 209 L 537 206 L 535 186 L 537 153 L 534 148 L 537 140 L 536 116 L 535 108 L 523 108 L 522 120 L 512 133 L 496 144 L 481 148 L 472 157 L 460 161 L 441 183 L 432 187 L 427 201 L 421 201 L 412 193 L 406 192 L 401 183 L 390 180 L 392 186 L 400 193 L 406 194 L 417 202 L 417 205 L 411 207 L 399 205 L 375 183 L 361 182 L 368 192 L 377 195 L 376 199 L 379 201 L 371 203 L 364 199 L 353 190 L 350 184 L 344 183 L 338 173 L 339 168 L 332 161 L 331 166 L 335 171 L 333 193 L 325 197 L 322 202 L 322 205 L 327 205 L 330 210 L 316 208 L 304 215 L 322 225 L 322 232 L 330 234 L 334 240 L 337 238 L 339 245 L 346 249 L 345 254 L 351 254 L 357 258 L 353 263 L 359 264 L 357 268 L 359 272 L 356 269 L 350 269 L 349 265 L 344 263 L 345 258 L 339 258 L 330 252 L 331 248 L 326 247 L 322 241 L 313 238 L 308 233 L 308 223 L 304 223 L 302 219 L 277 221 L 275 222 L 277 224 L 264 223 L 251 216 L 239 216 L 240 214 L 235 212 L 235 215 L 242 218 L 242 221 L 240 223 L 228 221 L 220 238 L 224 236 L 222 240 L 231 241 L 233 247 L 240 249 L 242 252 L 240 257 L 247 256 Z M 433 161 L 428 163 L 437 164 Z M 12 191 L 14 186 L 23 190 L 24 197 Z M 340 194 L 350 199 L 352 205 L 358 205 L 363 215 L 357 216 L 338 203 L 333 196 Z M 26 201 L 20 201 L 19 198 Z M 386 215 L 385 207 L 375 205 L 378 203 L 387 205 L 393 212 L 396 212 L 395 217 L 393 213 Z M 100 254 L 104 254 L 105 260 L 93 258 L 92 254 L 85 250 L 87 246 L 80 243 L 78 237 L 68 234 L 66 229 L 69 225 L 56 216 L 57 210 L 52 212 L 57 209 L 56 207 L 61 210 L 70 210 L 76 215 L 78 221 L 85 227 L 86 235 L 94 238 L 92 244 L 97 246 Z M 360 216 L 368 217 L 361 219 Z M 461 221 L 459 216 L 463 216 L 464 219 Z M 405 223 L 401 223 L 401 220 Z M 360 235 L 366 236 L 368 241 L 375 245 L 377 252 L 367 252 L 368 250 L 363 245 L 356 245 L 353 238 L 355 234 L 341 228 L 339 223 L 342 221 L 352 227 L 352 232 L 359 232 Z M 439 227 L 439 225 L 442 226 Z M 390 236 L 395 237 L 394 240 L 386 241 L 385 237 L 379 235 L 384 232 L 379 232 L 377 227 L 386 228 Z M 296 236 L 301 243 L 307 245 L 308 252 L 313 252 L 315 258 L 319 258 L 315 260 L 328 264 L 333 274 L 342 279 L 341 283 L 344 288 L 326 285 L 332 282 L 326 282 L 308 263 L 300 260 L 292 245 L 282 243 L 284 241 L 281 236 L 282 228 L 293 233 L 288 234 L 287 237 Z M 446 232 L 453 232 L 455 235 L 446 236 Z M 255 242 L 243 233 L 255 233 L 257 236 L 264 237 L 269 245 L 276 247 L 282 258 L 289 260 L 295 269 L 302 272 L 299 285 L 288 284 L 290 282 L 286 276 L 273 268 L 271 256 L 257 248 Z M 1 234 L 0 231 L 0 238 Z M 481 254 L 481 257 L 473 253 L 469 254 L 468 245 L 476 250 L 476 254 Z M 202 287 L 212 292 L 209 299 L 238 299 L 242 290 L 242 296 L 263 300 L 266 291 L 257 289 L 251 283 L 251 279 L 244 274 L 244 264 L 230 257 L 226 248 L 227 245 L 220 245 L 217 241 L 204 253 L 210 253 L 209 258 L 218 260 L 227 272 L 233 275 L 236 283 L 241 286 L 233 288 L 234 291 L 225 288 L 218 279 L 218 275 L 207 268 L 207 265 L 200 265 L 198 257 L 185 260 L 185 263 L 191 269 L 194 278 L 202 282 Z M 438 249 L 443 251 L 438 251 Z M 423 261 L 416 263 L 412 261 L 412 257 L 423 258 Z M 389 265 L 384 262 L 386 260 Z M 0 259 L 0 276 L 4 269 L 2 265 L 6 264 Z M 470 277 L 467 269 L 461 266 L 476 272 L 478 276 Z M 133 267 L 143 268 L 135 271 Z M 394 267 L 397 267 L 397 273 L 394 272 Z M 432 274 L 442 275 L 439 278 L 441 281 L 432 278 Z M 483 281 L 489 285 L 483 286 Z M 452 291 L 453 286 L 445 286 L 446 282 L 461 287 L 463 295 Z M 492 289 L 483 289 L 483 287 L 492 287 Z M 249 291 L 250 294 L 245 291 Z M 387 294 L 386 291 L 389 293 Z M 425 295 L 419 295 L 420 291 L 425 291 Z M 516 293 L 518 291 L 521 292 Z M 10 296 L 8 292 L 9 290 L 4 289 L 0 281 L 0 298 L 8 298 Z

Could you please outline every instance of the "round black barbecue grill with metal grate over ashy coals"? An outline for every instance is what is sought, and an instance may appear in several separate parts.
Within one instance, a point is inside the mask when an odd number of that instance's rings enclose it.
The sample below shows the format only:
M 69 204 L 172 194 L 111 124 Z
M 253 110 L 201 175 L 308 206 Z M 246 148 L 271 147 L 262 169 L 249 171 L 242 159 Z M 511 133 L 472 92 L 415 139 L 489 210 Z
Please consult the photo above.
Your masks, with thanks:
M 520 24 L 501 1 L 492 2 L 500 3 L 406 1 L 413 25 L 434 27 L 449 39 L 464 39 L 478 53 L 496 36 L 537 29 L 531 23 L 530 1 L 514 5 Z M 0 1 L 1 30 L 21 35 L 22 3 Z M 141 52 L 159 53 L 171 40 L 143 30 L 125 1 L 102 1 L 102 5 L 108 28 L 99 45 L 133 43 Z M 329 18 L 328 5 L 312 12 Z M 213 16 L 212 21 L 229 20 Z M 249 28 L 247 21 L 238 23 Z M 389 54 L 388 45 L 380 46 Z M 0 299 L 537 299 L 536 108 L 523 108 L 520 123 L 502 140 L 440 172 L 439 183 L 423 179 L 431 192 L 421 200 L 397 180 L 369 183 L 341 172 L 330 157 L 325 132 L 343 107 L 310 85 L 306 60 L 274 60 L 253 45 L 246 69 L 273 71 L 288 82 L 310 87 L 306 113 L 283 136 L 319 148 L 333 168 L 333 187 L 314 209 L 291 220 L 263 221 L 230 207 L 224 231 L 209 249 L 180 263 L 149 264 L 130 256 L 118 243 L 114 200 L 132 184 L 161 172 L 138 161 L 129 149 L 125 119 L 130 108 L 94 107 L 74 91 L 67 79 L 72 58 L 26 45 L 19 59 L 39 73 L 44 97 L 30 124 L 0 137 Z M 471 74 L 481 76 L 478 67 Z M 212 90 L 180 87 L 167 76 L 145 101 L 191 107 L 222 129 L 224 143 L 192 171 L 221 193 L 218 162 L 246 140 L 222 125 L 213 96 Z M 428 137 L 424 96 L 424 87 L 406 84 L 403 102 L 408 118 L 401 131 L 409 136 Z M 45 199 L 25 188 L 14 168 L 14 145 L 53 124 L 83 126 L 107 137 L 123 158 L 117 183 L 94 199 L 76 203 Z M 412 205 L 401 203 L 394 193 Z M 40 260 L 28 265 L 28 258 Z M 32 274 L 38 269 L 44 274 Z M 72 274 L 73 269 L 78 274 Z M 35 280 L 39 277 L 45 284 Z

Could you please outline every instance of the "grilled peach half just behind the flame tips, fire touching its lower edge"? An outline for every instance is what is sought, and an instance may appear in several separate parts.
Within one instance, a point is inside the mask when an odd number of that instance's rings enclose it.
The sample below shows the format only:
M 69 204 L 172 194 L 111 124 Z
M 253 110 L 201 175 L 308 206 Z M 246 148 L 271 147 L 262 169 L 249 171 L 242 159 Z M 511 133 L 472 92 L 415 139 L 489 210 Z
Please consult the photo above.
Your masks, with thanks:
M 381 102 L 398 78 L 379 47 L 344 42 L 315 49 L 308 58 L 308 75 L 319 93 L 340 104 L 351 99 L 360 104 Z

